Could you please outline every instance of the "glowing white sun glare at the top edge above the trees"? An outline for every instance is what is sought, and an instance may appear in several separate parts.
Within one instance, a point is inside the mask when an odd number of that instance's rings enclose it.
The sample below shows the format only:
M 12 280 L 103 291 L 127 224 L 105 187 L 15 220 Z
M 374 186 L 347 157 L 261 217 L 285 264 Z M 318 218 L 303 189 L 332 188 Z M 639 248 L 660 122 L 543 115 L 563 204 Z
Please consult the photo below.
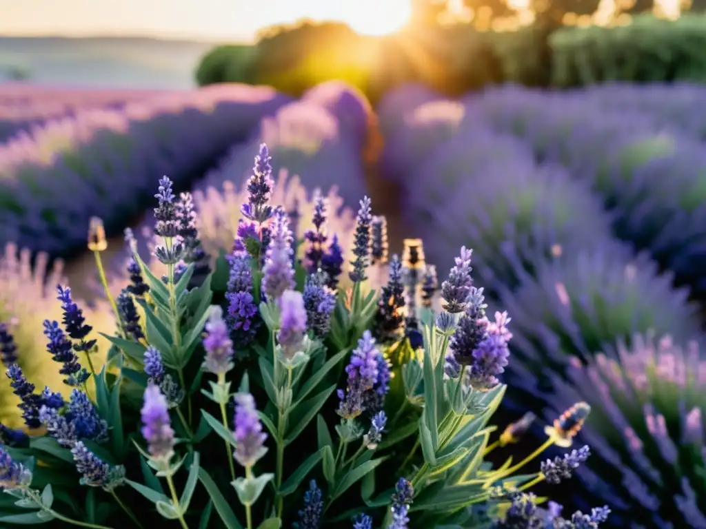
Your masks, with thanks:
M 342 19 L 361 35 L 388 35 L 402 29 L 411 16 L 409 0 L 357 0 L 341 13 Z

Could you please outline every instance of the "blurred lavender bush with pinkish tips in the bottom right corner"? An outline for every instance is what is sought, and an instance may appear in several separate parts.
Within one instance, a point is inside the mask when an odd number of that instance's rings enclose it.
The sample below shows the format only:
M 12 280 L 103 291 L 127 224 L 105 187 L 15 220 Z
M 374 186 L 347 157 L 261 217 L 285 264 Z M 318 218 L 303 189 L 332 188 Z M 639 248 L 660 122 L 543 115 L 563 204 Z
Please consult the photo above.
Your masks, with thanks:
M 706 527 L 698 344 L 642 334 L 604 351 L 566 377 L 545 374 L 556 396 L 545 416 L 563 399 L 585 399 L 596 419 L 585 429 L 592 456 L 575 470 L 575 501 L 610 499 L 619 527 Z

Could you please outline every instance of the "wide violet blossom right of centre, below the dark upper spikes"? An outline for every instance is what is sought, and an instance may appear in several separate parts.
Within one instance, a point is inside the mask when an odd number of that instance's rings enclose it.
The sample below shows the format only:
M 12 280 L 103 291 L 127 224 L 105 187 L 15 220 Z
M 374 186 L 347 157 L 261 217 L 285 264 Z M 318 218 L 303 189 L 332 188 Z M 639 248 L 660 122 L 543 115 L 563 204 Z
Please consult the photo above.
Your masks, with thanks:
M 345 391 L 337 391 L 340 403 L 337 413 L 344 419 L 354 419 L 364 411 L 364 397 L 378 380 L 378 355 L 370 331 L 365 331 L 358 341 L 358 347 L 351 354 L 346 366 L 348 379 Z

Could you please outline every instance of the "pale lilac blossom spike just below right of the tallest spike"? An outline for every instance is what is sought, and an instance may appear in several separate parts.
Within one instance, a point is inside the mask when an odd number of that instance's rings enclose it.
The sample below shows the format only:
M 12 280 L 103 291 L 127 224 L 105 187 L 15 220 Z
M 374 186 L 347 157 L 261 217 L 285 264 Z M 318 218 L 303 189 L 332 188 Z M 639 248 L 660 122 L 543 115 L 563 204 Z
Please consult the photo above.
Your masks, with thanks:
M 263 267 L 262 292 L 268 300 L 276 300 L 285 290 L 294 288 L 292 267 L 292 232 L 287 214 L 281 210 L 272 222 L 272 241 Z

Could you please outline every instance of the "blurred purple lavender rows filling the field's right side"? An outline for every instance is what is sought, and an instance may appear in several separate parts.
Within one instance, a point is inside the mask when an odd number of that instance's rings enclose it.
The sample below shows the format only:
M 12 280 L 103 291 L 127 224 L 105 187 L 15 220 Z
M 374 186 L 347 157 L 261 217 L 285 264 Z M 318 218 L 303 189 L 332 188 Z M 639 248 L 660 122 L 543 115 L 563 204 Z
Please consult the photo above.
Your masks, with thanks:
M 491 303 L 513 316 L 507 413 L 597 410 L 572 495 L 609 503 L 613 527 L 706 528 L 706 362 L 689 300 L 706 288 L 704 102 L 686 85 L 457 100 L 407 86 L 378 109 L 381 168 L 429 261 L 473 248 Z

